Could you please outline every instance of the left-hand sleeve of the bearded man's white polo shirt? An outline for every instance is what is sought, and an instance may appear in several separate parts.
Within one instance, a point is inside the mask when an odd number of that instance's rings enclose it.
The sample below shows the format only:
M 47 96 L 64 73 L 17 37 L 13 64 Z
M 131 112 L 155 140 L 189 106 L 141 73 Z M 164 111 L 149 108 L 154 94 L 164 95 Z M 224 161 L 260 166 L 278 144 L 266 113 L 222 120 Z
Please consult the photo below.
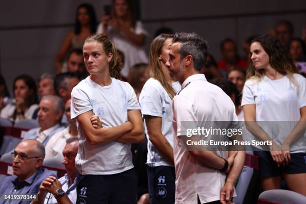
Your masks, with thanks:
M 197 121 L 192 101 L 185 96 L 175 95 L 172 101 L 172 111 L 176 125 L 176 136 L 185 135 L 183 131 L 190 127 L 183 127 L 181 121 Z

